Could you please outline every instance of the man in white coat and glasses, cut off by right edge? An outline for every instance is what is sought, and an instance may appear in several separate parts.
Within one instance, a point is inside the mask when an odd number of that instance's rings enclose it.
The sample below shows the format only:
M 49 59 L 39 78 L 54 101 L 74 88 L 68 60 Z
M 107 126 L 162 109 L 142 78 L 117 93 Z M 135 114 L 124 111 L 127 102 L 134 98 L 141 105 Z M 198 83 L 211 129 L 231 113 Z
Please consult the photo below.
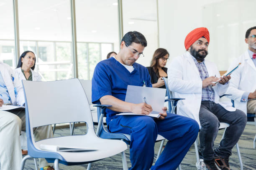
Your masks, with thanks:
M 236 58 L 228 70 L 233 69 L 238 63 L 241 65 L 232 73 L 232 80 L 228 87 L 228 94 L 234 100 L 235 107 L 245 113 L 256 113 L 256 26 L 246 31 L 246 50 Z

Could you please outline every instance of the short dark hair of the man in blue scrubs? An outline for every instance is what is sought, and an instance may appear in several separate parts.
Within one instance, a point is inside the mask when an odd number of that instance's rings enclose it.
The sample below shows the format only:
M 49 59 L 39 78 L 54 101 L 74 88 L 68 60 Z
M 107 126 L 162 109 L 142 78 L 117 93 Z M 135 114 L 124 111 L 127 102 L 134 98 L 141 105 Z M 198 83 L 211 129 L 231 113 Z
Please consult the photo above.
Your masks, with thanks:
M 142 35 L 140 32 L 137 32 L 137 31 L 130 31 L 130 32 L 127 32 L 121 42 L 125 42 L 126 45 L 131 45 L 133 42 L 136 43 L 136 44 L 141 44 L 142 46 L 146 47 L 147 46 L 147 40 L 146 38 L 144 37 L 144 35 Z M 125 46 L 126 46 L 125 45 Z

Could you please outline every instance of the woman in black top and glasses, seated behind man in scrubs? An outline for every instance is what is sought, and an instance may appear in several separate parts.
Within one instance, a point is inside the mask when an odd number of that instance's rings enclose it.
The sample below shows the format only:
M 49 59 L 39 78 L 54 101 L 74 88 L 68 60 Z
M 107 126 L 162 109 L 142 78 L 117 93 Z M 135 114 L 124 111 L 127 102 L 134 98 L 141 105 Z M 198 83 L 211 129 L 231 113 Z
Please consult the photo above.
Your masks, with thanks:
M 164 48 L 158 48 L 154 52 L 150 67 L 147 67 L 152 87 L 166 88 L 163 77 L 167 78 L 167 68 L 164 66 L 168 59 L 169 52 Z

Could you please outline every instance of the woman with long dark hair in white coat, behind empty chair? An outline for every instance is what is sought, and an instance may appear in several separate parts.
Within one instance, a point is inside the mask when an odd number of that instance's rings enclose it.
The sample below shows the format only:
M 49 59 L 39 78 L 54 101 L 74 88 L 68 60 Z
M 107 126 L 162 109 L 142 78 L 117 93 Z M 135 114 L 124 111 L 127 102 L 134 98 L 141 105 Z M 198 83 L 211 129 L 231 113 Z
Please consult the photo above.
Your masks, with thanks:
M 20 80 L 41 81 L 41 76 L 34 71 L 36 56 L 32 51 L 25 51 L 20 55 L 17 68 L 14 72 Z

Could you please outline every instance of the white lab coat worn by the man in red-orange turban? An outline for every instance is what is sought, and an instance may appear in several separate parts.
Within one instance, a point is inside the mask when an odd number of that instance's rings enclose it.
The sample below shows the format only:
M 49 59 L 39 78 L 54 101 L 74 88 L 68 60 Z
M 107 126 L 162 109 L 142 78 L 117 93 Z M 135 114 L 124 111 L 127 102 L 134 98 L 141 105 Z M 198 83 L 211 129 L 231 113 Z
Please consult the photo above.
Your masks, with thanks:
M 185 98 L 179 100 L 177 104 L 177 114 L 190 117 L 197 121 L 200 125 L 199 110 L 202 100 L 202 80 L 193 56 L 186 52 L 184 55 L 175 57 L 168 67 L 168 86 L 173 92 L 174 97 Z M 220 73 L 213 62 L 205 60 L 209 77 L 220 77 Z M 219 103 L 228 111 L 235 111 L 231 102 L 219 102 L 220 96 L 223 95 L 228 84 L 222 85 L 218 83 L 213 89 L 215 92 L 215 103 Z

